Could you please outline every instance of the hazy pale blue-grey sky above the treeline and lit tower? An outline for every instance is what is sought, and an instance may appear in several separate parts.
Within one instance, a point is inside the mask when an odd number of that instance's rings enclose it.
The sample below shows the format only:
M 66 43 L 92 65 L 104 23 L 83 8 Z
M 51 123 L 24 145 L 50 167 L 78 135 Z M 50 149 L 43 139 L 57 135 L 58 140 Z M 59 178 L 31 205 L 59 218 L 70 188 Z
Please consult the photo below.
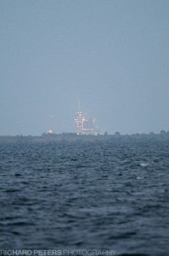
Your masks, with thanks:
M 168 0 L 1 0 L 0 135 L 169 131 Z

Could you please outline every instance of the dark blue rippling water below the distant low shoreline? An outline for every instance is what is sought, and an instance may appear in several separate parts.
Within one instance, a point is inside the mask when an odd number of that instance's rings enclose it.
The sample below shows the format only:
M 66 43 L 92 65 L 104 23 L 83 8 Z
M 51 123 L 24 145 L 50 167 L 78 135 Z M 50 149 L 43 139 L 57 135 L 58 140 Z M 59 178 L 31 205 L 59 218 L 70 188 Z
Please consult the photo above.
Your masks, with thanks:
M 169 255 L 169 143 L 11 143 L 0 152 L 1 249 Z

